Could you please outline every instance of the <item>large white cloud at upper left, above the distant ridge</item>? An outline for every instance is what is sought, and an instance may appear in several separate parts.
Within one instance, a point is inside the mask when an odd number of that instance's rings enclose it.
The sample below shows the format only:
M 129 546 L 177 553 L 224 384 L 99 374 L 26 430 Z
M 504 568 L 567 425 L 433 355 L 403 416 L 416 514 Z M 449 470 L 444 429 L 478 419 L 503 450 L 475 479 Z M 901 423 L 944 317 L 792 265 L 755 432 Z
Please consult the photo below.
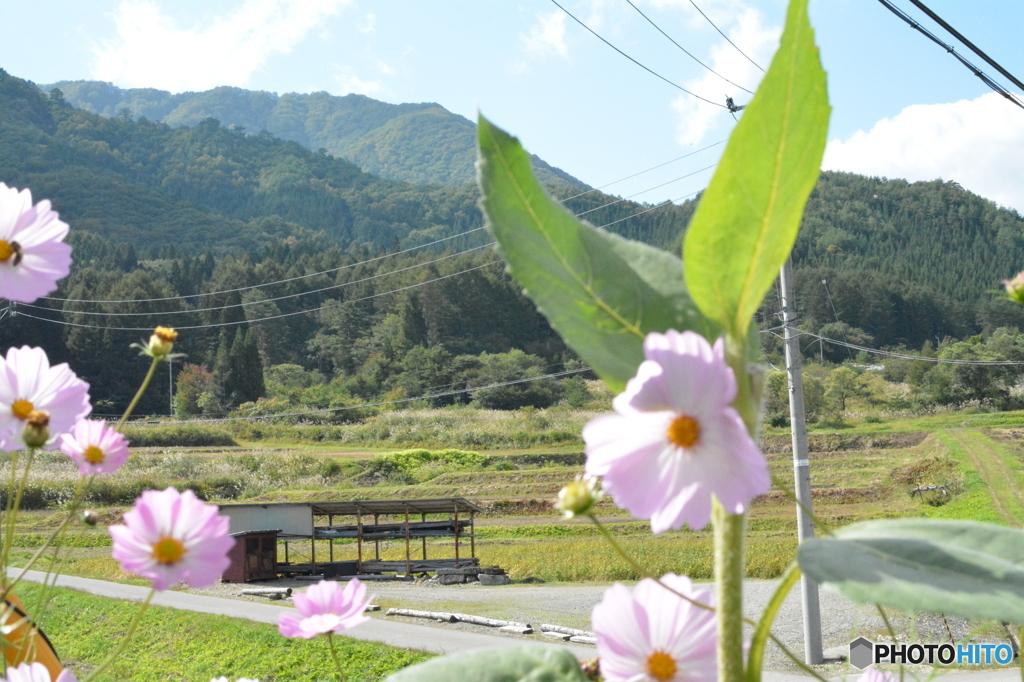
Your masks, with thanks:
M 181 28 L 154 0 L 122 0 L 117 38 L 94 48 L 93 76 L 172 92 L 243 86 L 274 53 L 287 54 L 350 0 L 246 0 L 234 11 Z

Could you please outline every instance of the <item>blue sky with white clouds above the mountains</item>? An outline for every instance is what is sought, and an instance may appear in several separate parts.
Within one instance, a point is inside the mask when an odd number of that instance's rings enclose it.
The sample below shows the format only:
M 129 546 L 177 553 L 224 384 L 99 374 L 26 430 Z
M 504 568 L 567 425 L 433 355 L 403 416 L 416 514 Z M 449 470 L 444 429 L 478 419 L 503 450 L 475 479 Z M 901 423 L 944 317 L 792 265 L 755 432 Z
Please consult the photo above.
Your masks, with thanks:
M 785 12 L 781 0 L 559 2 L 669 81 L 737 104 L 768 67 Z M 953 42 L 909 0 L 893 2 Z M 928 5 L 1024 80 L 1024 3 Z M 36 83 L 434 101 L 470 120 L 482 113 L 548 163 L 651 204 L 706 186 L 735 125 L 726 110 L 643 71 L 551 0 L 6 0 L 0 11 L 0 68 Z M 833 105 L 823 168 L 955 180 L 1024 213 L 1024 109 L 877 1 L 812 0 L 811 20 Z

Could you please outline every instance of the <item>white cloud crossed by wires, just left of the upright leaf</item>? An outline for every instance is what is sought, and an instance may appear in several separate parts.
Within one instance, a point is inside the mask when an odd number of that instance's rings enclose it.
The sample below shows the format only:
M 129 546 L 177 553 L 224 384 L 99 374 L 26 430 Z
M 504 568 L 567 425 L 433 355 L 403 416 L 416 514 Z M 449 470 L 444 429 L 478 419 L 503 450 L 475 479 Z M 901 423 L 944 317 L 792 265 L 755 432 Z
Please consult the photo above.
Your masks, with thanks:
M 689 5 L 688 2 L 686 4 Z M 727 31 L 722 25 L 719 25 L 719 28 L 723 28 L 729 39 L 738 45 L 746 55 L 767 68 L 782 34 L 781 28 L 765 26 L 764 16 L 752 7 L 742 9 L 734 16 L 738 16 L 738 18 L 734 19 L 733 27 Z M 701 61 L 733 83 L 738 83 L 750 90 L 757 89 L 757 85 L 764 75 L 725 40 L 715 44 L 711 50 L 710 59 L 701 59 Z M 746 92 L 707 71 L 700 78 L 687 81 L 683 85 L 690 92 L 723 104 L 727 95 L 731 96 L 736 104 L 744 104 L 752 97 Z M 708 102 L 700 101 L 685 93 L 680 94 L 672 101 L 672 110 L 677 117 L 676 139 L 683 145 L 701 142 L 707 139 L 709 134 L 718 130 L 722 130 L 722 134 L 724 134 L 724 129 L 732 124 L 732 119 L 725 110 L 712 106 Z

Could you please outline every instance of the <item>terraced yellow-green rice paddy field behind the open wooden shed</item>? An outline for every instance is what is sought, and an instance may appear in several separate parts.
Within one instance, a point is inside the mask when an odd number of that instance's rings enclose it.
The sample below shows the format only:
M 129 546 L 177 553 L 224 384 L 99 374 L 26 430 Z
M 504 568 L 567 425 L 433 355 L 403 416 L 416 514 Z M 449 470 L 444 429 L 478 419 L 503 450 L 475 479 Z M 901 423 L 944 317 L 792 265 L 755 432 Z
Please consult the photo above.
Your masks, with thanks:
M 120 472 L 94 482 L 87 506 L 101 521 L 94 528 L 77 525 L 61 539 L 65 570 L 133 582 L 110 559 L 104 525 L 117 522 L 141 491 L 175 485 L 222 504 L 464 497 L 487 512 L 476 519 L 477 556 L 484 564 L 504 567 L 514 580 L 640 578 L 592 523 L 565 521 L 551 508 L 560 487 L 583 470 L 579 433 L 594 413 L 548 412 L 411 411 L 352 427 L 246 425 L 236 432 L 136 428 L 133 440 L 148 446 L 135 447 Z M 265 431 L 255 437 L 258 428 Z M 361 435 L 346 436 L 345 429 L 390 435 L 369 447 Z M 175 439 L 220 444 L 153 444 Z M 465 444 L 474 442 L 481 446 Z M 810 445 L 814 511 L 823 525 L 911 515 L 1024 523 L 1022 413 L 947 413 L 865 423 L 813 432 Z M 762 450 L 773 475 L 788 485 L 788 434 L 769 430 Z M 9 459 L 0 460 L 0 476 L 9 473 Z M 45 454 L 36 462 L 23 501 L 29 511 L 13 543 L 15 559 L 28 557 L 59 522 L 77 481 L 77 471 L 62 455 Z M 600 504 L 598 516 L 647 571 L 711 578 L 710 528 L 654 537 L 608 500 Z M 774 489 L 758 499 L 749 528 L 748 576 L 779 576 L 796 549 L 788 494 Z M 322 544 L 317 556 L 333 551 L 336 559 L 355 558 L 351 543 L 337 541 L 333 550 L 327 541 Z M 290 551 L 293 562 L 301 561 L 309 543 L 293 543 Z M 382 559 L 404 558 L 400 543 L 382 544 L 377 551 Z M 454 546 L 432 541 L 430 554 L 454 556 Z

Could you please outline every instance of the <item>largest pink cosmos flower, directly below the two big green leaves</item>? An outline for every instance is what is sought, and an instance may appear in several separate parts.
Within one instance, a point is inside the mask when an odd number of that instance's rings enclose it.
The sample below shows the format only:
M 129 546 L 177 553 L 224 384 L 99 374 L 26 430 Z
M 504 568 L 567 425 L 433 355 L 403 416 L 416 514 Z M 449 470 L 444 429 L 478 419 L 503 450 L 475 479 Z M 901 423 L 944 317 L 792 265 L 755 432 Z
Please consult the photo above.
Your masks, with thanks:
M 699 334 L 648 334 L 637 376 L 612 406 L 617 414 L 583 430 L 587 473 L 603 476 L 615 504 L 649 518 L 654 532 L 697 529 L 712 496 L 731 513 L 771 486 L 768 464 L 730 404 L 736 380 L 725 343 Z

